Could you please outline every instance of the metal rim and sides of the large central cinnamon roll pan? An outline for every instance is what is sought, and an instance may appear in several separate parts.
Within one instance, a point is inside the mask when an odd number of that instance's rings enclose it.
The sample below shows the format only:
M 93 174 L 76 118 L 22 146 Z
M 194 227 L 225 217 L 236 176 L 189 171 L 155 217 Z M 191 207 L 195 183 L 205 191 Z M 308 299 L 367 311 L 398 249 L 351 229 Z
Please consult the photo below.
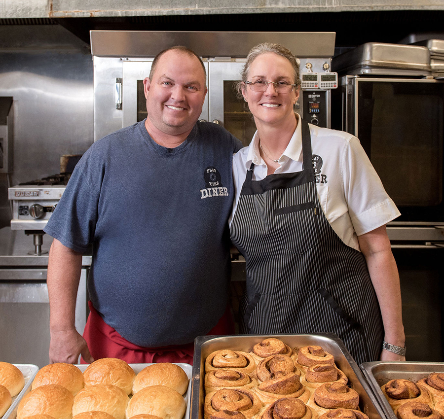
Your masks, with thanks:
M 193 383 L 191 392 L 191 419 L 204 417 L 204 383 L 205 359 L 220 349 L 233 349 L 249 352 L 253 346 L 266 338 L 282 340 L 291 348 L 307 345 L 322 346 L 334 356 L 334 360 L 349 379 L 349 385 L 360 396 L 361 410 L 370 419 L 385 418 L 380 406 L 374 397 L 369 384 L 366 382 L 358 365 L 345 348 L 342 341 L 333 333 L 316 335 L 235 335 L 235 336 L 199 336 L 194 340 Z

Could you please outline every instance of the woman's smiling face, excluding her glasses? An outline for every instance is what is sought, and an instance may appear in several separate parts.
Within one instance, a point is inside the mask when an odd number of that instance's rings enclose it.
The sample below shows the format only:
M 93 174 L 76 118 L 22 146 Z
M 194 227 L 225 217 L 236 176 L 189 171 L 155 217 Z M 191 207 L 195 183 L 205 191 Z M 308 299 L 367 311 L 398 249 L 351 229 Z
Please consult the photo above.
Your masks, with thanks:
M 259 55 L 252 62 L 248 73 L 248 81 L 285 81 L 295 83 L 295 70 L 286 58 L 273 52 Z M 248 102 L 256 126 L 261 124 L 279 126 L 280 123 L 294 120 L 293 106 L 299 97 L 299 87 L 291 93 L 277 93 L 274 84 L 269 83 L 265 92 L 255 92 L 245 85 L 242 95 Z

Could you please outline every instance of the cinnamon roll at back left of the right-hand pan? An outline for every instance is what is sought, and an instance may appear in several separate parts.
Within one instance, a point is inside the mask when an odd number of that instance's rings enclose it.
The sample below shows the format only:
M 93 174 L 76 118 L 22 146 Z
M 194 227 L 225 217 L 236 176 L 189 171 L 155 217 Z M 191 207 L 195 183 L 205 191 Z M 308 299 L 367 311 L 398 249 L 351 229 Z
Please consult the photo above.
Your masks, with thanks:
M 432 396 L 421 384 L 399 378 L 382 385 L 381 390 L 395 414 L 397 409 L 407 402 L 426 403 L 432 407 Z

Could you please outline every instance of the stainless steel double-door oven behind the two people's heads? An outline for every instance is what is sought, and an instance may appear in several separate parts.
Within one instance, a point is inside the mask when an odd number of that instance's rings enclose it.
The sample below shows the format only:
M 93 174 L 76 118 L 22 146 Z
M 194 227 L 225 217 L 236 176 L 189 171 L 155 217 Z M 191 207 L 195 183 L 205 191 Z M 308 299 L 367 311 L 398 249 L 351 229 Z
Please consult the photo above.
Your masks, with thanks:
M 331 78 L 335 77 L 331 71 L 334 39 L 333 32 L 91 31 L 94 140 L 146 117 L 143 79 L 154 56 L 185 45 L 203 58 L 207 71 L 208 94 L 200 119 L 223 125 L 248 145 L 256 128 L 247 104 L 236 98 L 233 84 L 250 49 L 260 42 L 281 43 L 296 54 L 301 71 Z M 298 112 L 308 122 L 330 127 L 331 81 L 302 89 Z

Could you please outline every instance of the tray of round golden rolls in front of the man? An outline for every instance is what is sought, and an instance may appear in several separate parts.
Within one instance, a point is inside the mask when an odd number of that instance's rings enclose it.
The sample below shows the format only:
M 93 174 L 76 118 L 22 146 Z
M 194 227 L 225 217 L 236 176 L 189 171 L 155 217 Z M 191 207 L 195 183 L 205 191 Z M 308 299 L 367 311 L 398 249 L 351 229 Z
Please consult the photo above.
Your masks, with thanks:
M 35 374 L 8 419 L 189 419 L 191 374 L 185 363 L 127 364 L 117 358 L 49 364 Z

